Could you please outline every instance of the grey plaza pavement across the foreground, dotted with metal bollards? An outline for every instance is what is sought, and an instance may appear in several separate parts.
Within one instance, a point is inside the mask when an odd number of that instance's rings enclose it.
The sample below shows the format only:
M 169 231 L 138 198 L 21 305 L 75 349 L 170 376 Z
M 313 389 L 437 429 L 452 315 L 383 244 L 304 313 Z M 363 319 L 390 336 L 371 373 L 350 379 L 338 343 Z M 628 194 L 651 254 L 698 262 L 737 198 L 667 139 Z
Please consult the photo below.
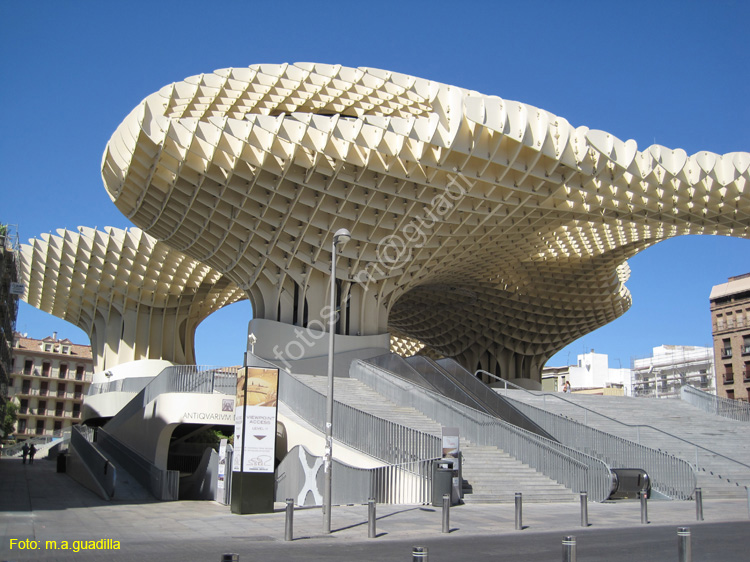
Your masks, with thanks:
M 334 482 L 335 485 L 335 482 Z M 728 536 L 739 533 L 737 542 L 744 542 L 750 531 L 746 500 L 704 499 L 704 521 L 696 520 L 692 501 L 649 501 L 647 525 L 641 523 L 637 501 L 589 503 L 589 526 L 581 527 L 580 505 L 523 505 L 523 530 L 515 529 L 515 507 L 511 504 L 468 504 L 450 510 L 450 533 L 442 532 L 442 511 L 432 506 L 378 505 L 377 537 L 368 538 L 367 506 L 334 507 L 332 533 L 323 534 L 320 508 L 298 508 L 294 512 L 292 542 L 285 541 L 285 506 L 276 504 L 269 514 L 233 515 L 228 506 L 207 501 L 177 502 L 107 502 L 82 488 L 66 474 L 56 472 L 56 464 L 36 459 L 33 465 L 19 459 L 0 460 L 0 528 L 3 543 L 0 561 L 15 560 L 221 560 L 225 552 L 240 554 L 240 562 L 248 560 L 388 560 L 395 559 L 394 549 L 403 553 L 400 560 L 411 559 L 410 545 L 454 546 L 481 544 L 489 537 L 505 538 L 506 545 L 516 550 L 535 542 L 560 540 L 576 535 L 579 544 L 588 534 L 606 530 L 615 536 L 643 536 L 664 527 L 660 536 L 670 537 L 672 548 L 676 528 L 689 526 L 696 535 L 701 527 L 704 535 L 723 526 Z M 730 525 L 731 524 L 731 525 Z M 714 527 L 711 527 L 711 526 Z M 668 528 L 668 529 L 666 529 Z M 13 539 L 39 542 L 36 550 L 20 550 Z M 45 548 L 46 541 L 119 541 L 119 550 L 72 550 Z M 634 539 L 628 539 L 633 541 Z M 660 539 L 666 540 L 666 539 Z M 511 542 L 512 541 L 512 542 Z M 726 542 L 725 539 L 722 539 Z M 30 543 L 34 544 L 34 543 Z M 114 544 L 110 541 L 110 545 Z M 99 546 L 107 546 L 100 542 Z M 525 546 L 524 546 L 525 545 Z M 441 550 L 430 547 L 430 559 L 441 558 Z M 439 547 L 442 548 L 442 547 Z M 510 547 L 508 547 L 510 548 Z M 556 547 L 557 548 L 557 547 Z M 580 547 L 579 547 L 580 548 Z M 447 549 L 442 552 L 448 552 Z M 470 550 L 468 551 L 471 552 Z M 559 552 L 559 549 L 555 552 Z M 262 555 L 262 556 L 261 556 Z M 744 553 L 743 553 L 744 555 Z M 297 556 L 297 557 L 295 557 Z M 676 550 L 674 554 L 676 560 Z M 469 555 L 463 560 L 472 560 Z M 514 559 L 510 557 L 509 559 Z M 532 560 L 518 558 L 515 560 Z M 557 556 L 554 558 L 558 560 Z M 579 555 L 579 562 L 583 558 Z M 628 558 L 624 558 L 628 559 Z M 654 560 L 658 558 L 652 558 Z M 722 558 L 718 558 L 721 560 Z M 725 558 L 729 560 L 731 558 Z M 742 558 L 739 558 L 742 559 Z M 750 555 L 748 558 L 750 559 Z M 696 559 L 697 560 L 697 559 Z

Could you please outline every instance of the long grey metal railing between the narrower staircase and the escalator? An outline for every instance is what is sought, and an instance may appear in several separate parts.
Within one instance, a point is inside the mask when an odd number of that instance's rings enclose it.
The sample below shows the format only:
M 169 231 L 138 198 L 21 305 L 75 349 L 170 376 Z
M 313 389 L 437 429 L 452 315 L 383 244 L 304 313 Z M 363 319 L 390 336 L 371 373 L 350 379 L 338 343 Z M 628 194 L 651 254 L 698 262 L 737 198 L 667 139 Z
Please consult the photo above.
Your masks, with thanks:
M 459 427 L 461 435 L 473 443 L 504 450 L 573 492 L 588 491 L 593 501 L 604 501 L 609 497 L 612 473 L 599 459 L 474 410 L 440 393 L 415 387 L 381 366 L 357 360 L 352 363 L 350 376 L 396 404 L 415 408 L 444 426 Z

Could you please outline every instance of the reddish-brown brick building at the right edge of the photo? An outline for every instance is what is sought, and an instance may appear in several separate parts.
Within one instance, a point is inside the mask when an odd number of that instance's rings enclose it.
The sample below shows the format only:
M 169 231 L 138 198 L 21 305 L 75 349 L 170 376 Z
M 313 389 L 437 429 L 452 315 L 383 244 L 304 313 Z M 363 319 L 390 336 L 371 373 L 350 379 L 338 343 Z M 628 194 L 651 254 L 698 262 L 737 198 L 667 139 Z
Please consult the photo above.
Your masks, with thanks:
M 717 394 L 750 401 L 750 273 L 711 289 Z

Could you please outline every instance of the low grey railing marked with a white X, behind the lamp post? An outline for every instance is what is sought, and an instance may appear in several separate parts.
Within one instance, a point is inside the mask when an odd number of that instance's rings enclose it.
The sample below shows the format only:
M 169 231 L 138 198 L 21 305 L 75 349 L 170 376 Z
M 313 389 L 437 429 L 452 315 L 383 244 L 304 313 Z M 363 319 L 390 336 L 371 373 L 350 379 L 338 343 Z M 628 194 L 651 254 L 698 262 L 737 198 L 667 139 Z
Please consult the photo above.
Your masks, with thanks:
M 432 465 L 437 459 L 426 459 L 377 468 L 357 468 L 333 461 L 335 485 L 332 502 L 336 505 L 363 504 L 369 498 L 378 503 L 426 504 L 432 499 Z M 315 481 L 322 470 L 323 459 L 310 454 L 301 445 L 284 457 L 276 470 L 276 501 L 293 498 L 304 506 L 322 505 Z M 310 474 L 310 469 L 315 469 Z

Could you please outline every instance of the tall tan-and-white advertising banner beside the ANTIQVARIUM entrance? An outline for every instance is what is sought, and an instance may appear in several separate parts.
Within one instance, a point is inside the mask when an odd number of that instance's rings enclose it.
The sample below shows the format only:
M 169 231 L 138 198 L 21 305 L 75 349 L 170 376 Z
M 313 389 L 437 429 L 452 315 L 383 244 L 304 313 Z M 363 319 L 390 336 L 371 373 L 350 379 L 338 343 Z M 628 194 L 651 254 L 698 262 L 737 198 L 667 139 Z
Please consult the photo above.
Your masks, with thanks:
M 279 370 L 245 367 L 237 374 L 233 472 L 274 471 Z

